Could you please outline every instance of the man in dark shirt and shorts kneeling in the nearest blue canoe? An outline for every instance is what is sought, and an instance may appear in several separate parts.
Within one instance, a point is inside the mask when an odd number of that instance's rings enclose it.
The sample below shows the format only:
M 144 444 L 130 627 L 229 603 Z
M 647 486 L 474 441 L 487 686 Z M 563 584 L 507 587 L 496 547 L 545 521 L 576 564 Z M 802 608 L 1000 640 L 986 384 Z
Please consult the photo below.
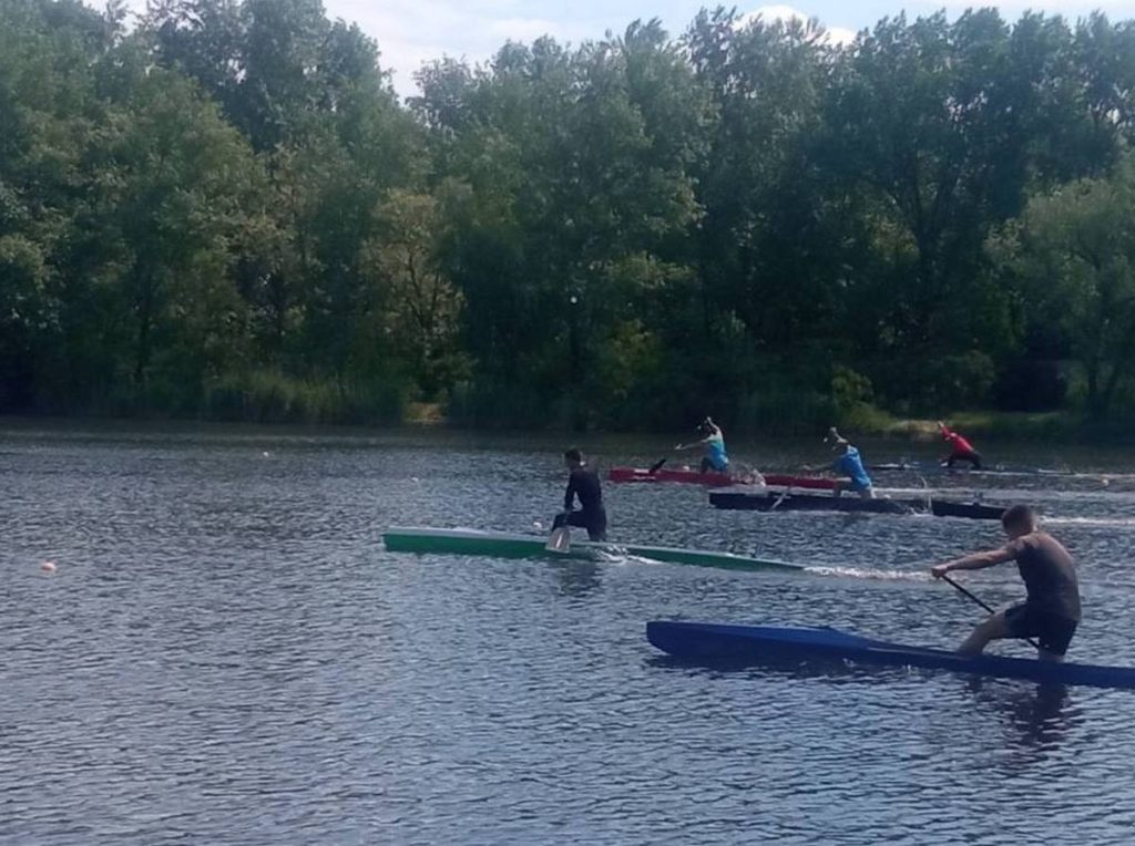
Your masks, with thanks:
M 992 640 L 1035 637 L 1039 658 L 1062 661 L 1079 623 L 1079 585 L 1076 565 L 1068 550 L 1036 527 L 1036 515 L 1028 506 L 1012 506 L 1001 516 L 1009 542 L 1001 549 L 974 552 L 931 568 L 934 578 L 952 570 L 977 570 L 1006 561 L 1016 561 L 1028 591 L 1027 599 L 998 611 L 958 649 L 977 654 Z

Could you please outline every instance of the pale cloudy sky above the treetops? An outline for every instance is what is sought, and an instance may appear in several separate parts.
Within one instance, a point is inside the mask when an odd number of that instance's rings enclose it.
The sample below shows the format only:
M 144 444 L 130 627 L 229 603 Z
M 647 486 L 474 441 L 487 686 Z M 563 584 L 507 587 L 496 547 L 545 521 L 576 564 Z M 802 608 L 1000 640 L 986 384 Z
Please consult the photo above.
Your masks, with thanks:
M 131 0 L 143 8 L 145 0 Z M 417 92 L 414 71 L 422 62 L 443 56 L 485 61 L 506 41 L 531 42 L 548 34 L 578 44 L 600 39 L 607 31 L 621 33 L 636 18 L 661 18 L 671 34 L 680 34 L 703 7 L 718 0 L 323 0 L 330 18 L 356 23 L 378 42 L 381 65 L 394 71 L 394 87 L 403 96 Z M 881 18 L 906 11 L 908 17 L 942 8 L 956 16 L 970 2 L 949 0 L 796 0 L 770 6 L 749 0 L 722 2 L 741 12 L 762 12 L 766 18 L 816 17 L 832 37 L 849 40 L 855 32 Z M 1026 9 L 1059 12 L 1075 18 L 1093 9 L 1113 19 L 1135 17 L 1135 0 L 986 0 L 1003 17 L 1015 19 Z

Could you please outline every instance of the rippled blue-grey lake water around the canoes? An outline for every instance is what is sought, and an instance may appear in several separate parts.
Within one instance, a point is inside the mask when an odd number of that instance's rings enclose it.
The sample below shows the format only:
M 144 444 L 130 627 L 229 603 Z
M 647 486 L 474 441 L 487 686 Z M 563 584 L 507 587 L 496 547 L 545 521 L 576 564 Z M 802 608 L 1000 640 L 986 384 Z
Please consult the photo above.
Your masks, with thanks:
M 581 446 L 607 467 L 669 445 Z M 390 525 L 546 525 L 562 446 L 0 424 L 0 841 L 1130 843 L 1135 692 L 674 667 L 644 636 L 661 617 L 949 646 L 981 612 L 926 566 L 998 543 L 993 523 L 716 511 L 696 488 L 608 484 L 614 541 L 818 569 L 384 551 Z M 1135 473 L 1130 451 L 978 447 Z M 1081 566 L 1073 659 L 1135 665 L 1135 477 L 927 483 L 1040 506 Z M 1023 595 L 1011 566 L 966 584 Z

